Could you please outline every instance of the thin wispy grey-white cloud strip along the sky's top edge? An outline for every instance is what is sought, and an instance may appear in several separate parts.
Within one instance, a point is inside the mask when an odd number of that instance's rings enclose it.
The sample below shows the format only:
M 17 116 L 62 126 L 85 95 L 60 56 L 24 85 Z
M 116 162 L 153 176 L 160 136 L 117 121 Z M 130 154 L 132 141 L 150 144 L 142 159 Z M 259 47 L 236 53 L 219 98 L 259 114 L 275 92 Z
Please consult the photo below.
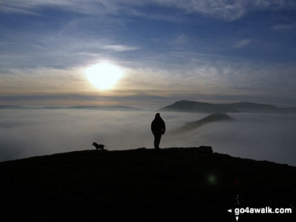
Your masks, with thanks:
M 182 9 L 187 13 L 197 13 L 204 16 L 214 17 L 223 20 L 236 20 L 250 11 L 258 10 L 280 10 L 295 7 L 295 3 L 290 0 L 246 0 L 246 1 L 229 1 L 229 0 L 32 0 L 24 3 L 21 0 L 16 0 L 14 3 L 6 3 L 2 10 L 21 13 L 25 11 L 38 11 L 38 7 L 60 7 L 67 11 L 80 12 L 84 14 L 101 14 L 101 13 L 113 13 L 118 14 L 120 12 L 130 13 L 134 15 L 143 15 L 143 13 L 137 13 L 139 7 L 148 4 L 155 4 L 169 8 Z M 137 8 L 137 9 L 136 9 Z M 8 11 L 10 9 L 10 11 Z

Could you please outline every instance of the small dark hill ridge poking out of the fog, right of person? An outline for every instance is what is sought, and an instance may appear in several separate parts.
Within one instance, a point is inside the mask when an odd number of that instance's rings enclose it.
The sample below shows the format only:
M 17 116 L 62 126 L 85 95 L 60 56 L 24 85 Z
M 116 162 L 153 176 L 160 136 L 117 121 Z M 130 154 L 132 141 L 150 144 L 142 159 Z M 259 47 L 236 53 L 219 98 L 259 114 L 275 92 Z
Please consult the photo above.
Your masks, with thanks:
M 187 123 L 180 130 L 181 131 L 190 131 L 190 130 L 194 130 L 198 127 L 201 127 L 205 124 L 217 122 L 217 121 L 222 121 L 222 120 L 230 121 L 230 120 L 233 120 L 233 118 L 231 118 L 230 116 L 228 116 L 227 114 L 224 114 L 224 113 L 214 113 L 214 114 L 209 115 L 203 119 Z

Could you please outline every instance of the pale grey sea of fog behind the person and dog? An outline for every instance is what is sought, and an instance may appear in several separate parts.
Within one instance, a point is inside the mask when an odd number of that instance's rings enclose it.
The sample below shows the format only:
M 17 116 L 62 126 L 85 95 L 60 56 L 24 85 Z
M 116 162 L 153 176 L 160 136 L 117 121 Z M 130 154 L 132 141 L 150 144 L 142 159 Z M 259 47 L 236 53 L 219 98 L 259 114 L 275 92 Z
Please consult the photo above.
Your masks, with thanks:
M 100 111 L 87 109 L 0 110 L 0 161 L 63 152 L 153 148 L 150 130 L 155 111 Z M 160 147 L 210 145 L 234 157 L 267 160 L 296 166 L 296 114 L 229 114 L 234 121 L 204 125 L 174 133 L 187 122 L 207 114 L 162 112 L 166 132 Z

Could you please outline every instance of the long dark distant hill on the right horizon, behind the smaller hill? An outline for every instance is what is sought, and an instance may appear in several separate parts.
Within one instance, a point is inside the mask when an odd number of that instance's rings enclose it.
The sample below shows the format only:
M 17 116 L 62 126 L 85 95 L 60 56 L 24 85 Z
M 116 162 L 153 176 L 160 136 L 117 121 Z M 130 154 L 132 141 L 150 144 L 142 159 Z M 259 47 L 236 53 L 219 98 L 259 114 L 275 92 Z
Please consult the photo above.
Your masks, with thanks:
M 230 104 L 211 104 L 195 101 L 181 100 L 159 111 L 177 112 L 201 112 L 201 113 L 235 113 L 235 112 L 273 112 L 273 113 L 295 113 L 296 108 L 277 108 L 273 105 L 239 102 Z

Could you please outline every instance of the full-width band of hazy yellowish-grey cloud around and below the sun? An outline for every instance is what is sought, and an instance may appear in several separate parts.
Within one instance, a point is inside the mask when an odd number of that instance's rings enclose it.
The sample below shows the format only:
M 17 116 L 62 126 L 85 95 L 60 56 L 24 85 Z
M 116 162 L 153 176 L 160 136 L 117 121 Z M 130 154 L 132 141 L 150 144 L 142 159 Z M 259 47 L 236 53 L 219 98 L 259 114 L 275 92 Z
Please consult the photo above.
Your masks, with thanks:
M 11 69 L 0 75 L 0 102 L 26 105 L 136 105 L 159 107 L 165 101 L 192 99 L 295 103 L 295 66 L 254 64 L 229 59 L 195 60 L 165 67 L 130 67 L 116 88 L 100 92 L 82 69 Z M 282 90 L 285 89 L 285 90 Z M 227 99 L 228 98 L 228 99 Z

